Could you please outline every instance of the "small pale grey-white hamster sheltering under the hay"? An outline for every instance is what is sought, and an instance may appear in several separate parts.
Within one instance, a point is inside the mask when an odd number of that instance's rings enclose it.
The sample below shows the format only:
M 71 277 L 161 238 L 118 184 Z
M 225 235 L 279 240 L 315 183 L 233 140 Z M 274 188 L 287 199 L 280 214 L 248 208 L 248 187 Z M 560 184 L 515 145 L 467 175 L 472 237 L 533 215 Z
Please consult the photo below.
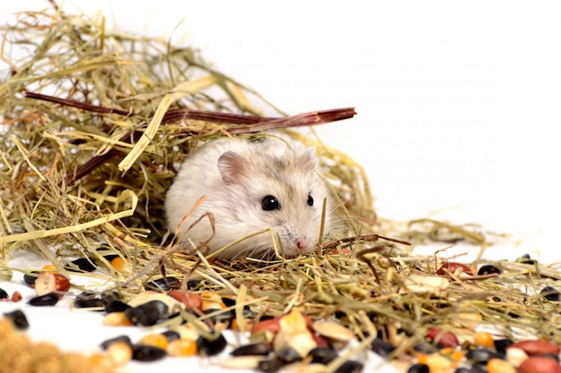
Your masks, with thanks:
M 168 190 L 168 228 L 176 232 L 181 223 L 177 236 L 197 247 L 210 239 L 200 248 L 205 255 L 265 229 L 272 230 L 285 258 L 309 254 L 319 240 L 324 199 L 324 233 L 332 226 L 332 196 L 317 168 L 314 148 L 281 134 L 209 141 L 186 158 Z M 181 222 L 203 196 L 203 203 Z M 214 235 L 207 213 L 214 217 Z M 220 251 L 216 258 L 274 259 L 270 232 Z

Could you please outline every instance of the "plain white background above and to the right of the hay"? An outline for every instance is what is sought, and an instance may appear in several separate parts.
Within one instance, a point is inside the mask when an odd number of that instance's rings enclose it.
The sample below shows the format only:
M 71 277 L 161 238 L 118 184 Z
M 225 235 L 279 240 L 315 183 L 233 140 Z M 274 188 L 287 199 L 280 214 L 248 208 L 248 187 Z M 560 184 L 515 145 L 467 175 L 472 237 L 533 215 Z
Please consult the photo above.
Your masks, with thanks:
M 108 4 L 65 9 L 109 16 Z M 45 6 L 3 1 L 0 18 Z M 203 47 L 289 114 L 356 106 L 354 119 L 317 131 L 365 165 L 380 216 L 480 223 L 522 239 L 490 257 L 559 259 L 558 2 L 119 0 L 112 9 L 120 29 Z

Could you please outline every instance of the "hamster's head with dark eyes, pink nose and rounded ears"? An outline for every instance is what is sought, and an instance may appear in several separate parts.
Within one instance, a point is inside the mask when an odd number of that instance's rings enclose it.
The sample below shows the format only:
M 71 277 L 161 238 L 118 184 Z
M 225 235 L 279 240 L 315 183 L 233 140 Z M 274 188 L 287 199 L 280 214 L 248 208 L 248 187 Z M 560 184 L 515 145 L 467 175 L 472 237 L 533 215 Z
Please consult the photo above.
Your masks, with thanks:
M 324 199 L 324 233 L 329 231 L 332 203 L 316 173 L 314 150 L 278 142 L 256 145 L 243 154 L 228 151 L 220 156 L 218 166 L 230 204 L 221 225 L 237 232 L 238 239 L 270 228 L 280 253 L 295 258 L 317 246 Z M 274 258 L 270 233 L 258 234 L 232 249 L 220 257 Z

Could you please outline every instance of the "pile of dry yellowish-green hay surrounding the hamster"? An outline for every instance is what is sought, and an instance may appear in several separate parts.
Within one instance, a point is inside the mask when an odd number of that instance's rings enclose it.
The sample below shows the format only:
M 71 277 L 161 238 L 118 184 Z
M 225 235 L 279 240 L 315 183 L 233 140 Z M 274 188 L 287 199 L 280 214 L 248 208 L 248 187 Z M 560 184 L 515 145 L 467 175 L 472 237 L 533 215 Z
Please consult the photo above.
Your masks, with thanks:
M 405 338 L 396 353 L 422 341 L 428 327 L 465 329 L 474 315 L 504 326 L 505 335 L 528 327 L 561 342 L 552 327 L 557 303 L 528 295 L 558 280 L 555 269 L 501 262 L 501 276 L 451 274 L 445 284 L 408 292 L 408 277 L 432 278 L 435 260 L 410 257 L 405 242 L 372 234 L 389 228 L 374 231 L 374 201 L 362 168 L 319 140 L 299 137 L 315 145 L 344 201 L 348 237 L 324 242 L 321 254 L 259 266 L 209 262 L 168 246 L 165 191 L 198 141 L 326 123 L 354 110 L 285 117 L 213 70 L 197 50 L 107 30 L 102 15 L 25 12 L 1 32 L 2 58 L 11 68 L 0 85 L 4 263 L 15 250 L 39 250 L 65 272 L 70 259 L 89 258 L 99 266 L 95 276 L 124 293 L 140 292 L 163 275 L 203 279 L 199 290 L 236 294 L 258 312 L 275 316 L 298 308 L 313 318 L 337 315 L 359 336 L 371 335 L 367 342 L 377 332 L 394 344 Z M 260 116 L 263 109 L 278 118 Z M 454 240 L 485 242 L 470 229 L 413 223 L 421 232 L 411 226 L 385 232 L 408 240 L 453 234 Z M 107 254 L 129 259 L 133 271 L 119 273 Z

